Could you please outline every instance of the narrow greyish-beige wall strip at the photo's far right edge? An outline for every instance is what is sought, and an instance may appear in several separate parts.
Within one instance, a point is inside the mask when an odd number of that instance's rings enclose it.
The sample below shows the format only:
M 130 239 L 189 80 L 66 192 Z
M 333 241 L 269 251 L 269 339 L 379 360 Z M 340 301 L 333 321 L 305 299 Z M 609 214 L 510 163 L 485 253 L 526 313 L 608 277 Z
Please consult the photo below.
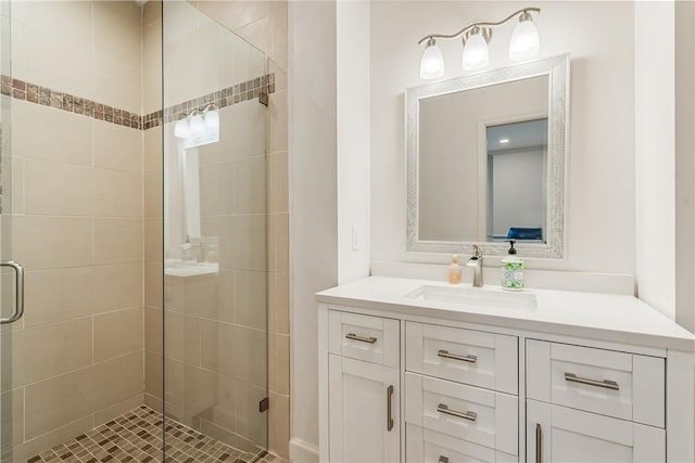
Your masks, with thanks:
M 695 2 L 675 3 L 675 321 L 695 331 Z

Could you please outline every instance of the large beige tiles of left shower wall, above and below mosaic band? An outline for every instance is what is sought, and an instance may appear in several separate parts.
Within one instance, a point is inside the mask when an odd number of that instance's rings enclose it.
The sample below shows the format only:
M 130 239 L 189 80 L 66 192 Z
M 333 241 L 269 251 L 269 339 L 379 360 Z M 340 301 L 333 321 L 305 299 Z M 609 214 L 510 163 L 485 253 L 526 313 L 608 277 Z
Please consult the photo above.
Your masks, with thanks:
M 140 113 L 134 2 L 12 3 L 13 76 Z M 12 102 L 15 461 L 143 401 L 142 132 Z

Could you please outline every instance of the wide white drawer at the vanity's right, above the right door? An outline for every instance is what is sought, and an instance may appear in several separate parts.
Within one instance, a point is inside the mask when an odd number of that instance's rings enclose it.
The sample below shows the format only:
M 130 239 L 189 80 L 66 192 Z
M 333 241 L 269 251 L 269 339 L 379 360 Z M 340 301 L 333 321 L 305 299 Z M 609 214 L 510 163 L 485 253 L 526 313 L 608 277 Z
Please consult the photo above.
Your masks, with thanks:
M 664 427 L 665 359 L 527 340 L 527 397 Z

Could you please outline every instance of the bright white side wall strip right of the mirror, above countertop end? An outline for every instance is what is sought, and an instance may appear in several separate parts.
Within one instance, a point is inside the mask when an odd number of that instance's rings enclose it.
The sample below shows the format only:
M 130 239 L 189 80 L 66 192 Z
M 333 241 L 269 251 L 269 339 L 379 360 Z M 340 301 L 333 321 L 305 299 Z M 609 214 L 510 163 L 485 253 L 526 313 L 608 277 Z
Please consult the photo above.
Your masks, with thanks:
M 637 293 L 675 311 L 673 2 L 636 2 L 635 231 Z M 659 34 L 653 34 L 659 30 Z M 670 52 L 669 52 L 670 51 Z

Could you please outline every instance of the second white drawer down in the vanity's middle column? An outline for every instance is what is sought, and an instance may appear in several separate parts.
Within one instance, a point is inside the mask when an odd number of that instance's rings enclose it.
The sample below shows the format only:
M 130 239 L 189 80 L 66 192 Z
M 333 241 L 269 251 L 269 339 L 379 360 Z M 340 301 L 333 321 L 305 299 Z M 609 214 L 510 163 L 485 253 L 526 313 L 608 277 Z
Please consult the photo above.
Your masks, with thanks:
M 406 423 L 516 455 L 518 415 L 515 396 L 405 374 Z

